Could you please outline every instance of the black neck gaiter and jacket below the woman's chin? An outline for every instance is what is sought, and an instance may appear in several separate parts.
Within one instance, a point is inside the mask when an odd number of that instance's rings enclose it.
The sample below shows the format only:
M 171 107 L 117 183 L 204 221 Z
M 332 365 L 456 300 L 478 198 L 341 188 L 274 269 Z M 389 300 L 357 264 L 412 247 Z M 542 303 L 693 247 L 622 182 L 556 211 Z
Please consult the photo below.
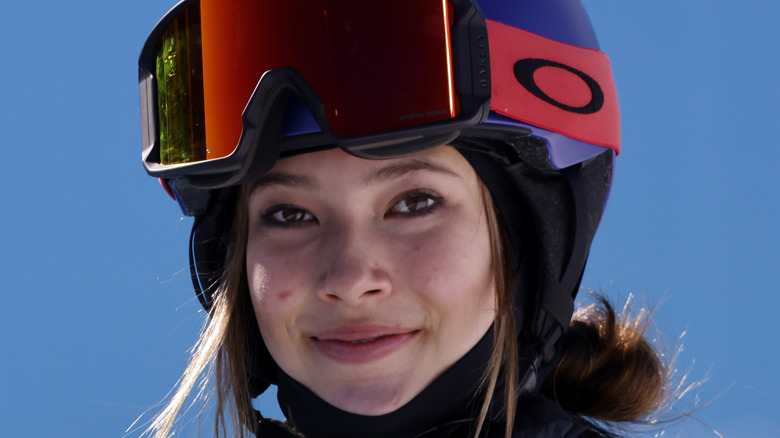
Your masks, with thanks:
M 263 419 L 255 431 L 260 438 L 471 438 L 481 409 L 482 376 L 492 352 L 492 330 L 461 360 L 398 410 L 364 416 L 340 410 L 316 396 L 281 369 L 277 398 L 290 424 Z M 495 394 L 503 394 L 499 382 Z M 491 403 L 481 438 L 504 438 L 506 424 L 500 397 Z M 518 400 L 513 438 L 602 437 L 549 399 L 525 396 Z

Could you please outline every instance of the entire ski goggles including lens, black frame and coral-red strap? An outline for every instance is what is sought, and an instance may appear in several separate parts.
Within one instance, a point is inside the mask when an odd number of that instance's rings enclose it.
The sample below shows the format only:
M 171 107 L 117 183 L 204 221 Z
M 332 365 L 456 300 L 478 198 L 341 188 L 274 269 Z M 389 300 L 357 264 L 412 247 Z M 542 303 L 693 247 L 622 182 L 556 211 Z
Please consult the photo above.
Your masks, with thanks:
M 144 44 L 139 85 L 147 172 L 195 188 L 318 147 L 408 155 L 485 124 L 538 133 L 551 157 L 559 134 L 576 160 L 619 150 L 606 55 L 485 20 L 472 0 L 184 0 Z

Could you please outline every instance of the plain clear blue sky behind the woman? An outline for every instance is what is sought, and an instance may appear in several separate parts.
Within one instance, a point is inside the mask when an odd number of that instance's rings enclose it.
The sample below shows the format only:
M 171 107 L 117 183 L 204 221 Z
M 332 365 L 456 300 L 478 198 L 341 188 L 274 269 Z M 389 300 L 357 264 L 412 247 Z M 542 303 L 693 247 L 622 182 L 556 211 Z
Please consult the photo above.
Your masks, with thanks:
M 172 5 L 0 3 L 0 437 L 123 436 L 203 321 L 190 220 L 140 163 L 137 55 Z M 685 333 L 711 403 L 666 436 L 780 436 L 780 2 L 586 7 L 624 152 L 583 284 Z

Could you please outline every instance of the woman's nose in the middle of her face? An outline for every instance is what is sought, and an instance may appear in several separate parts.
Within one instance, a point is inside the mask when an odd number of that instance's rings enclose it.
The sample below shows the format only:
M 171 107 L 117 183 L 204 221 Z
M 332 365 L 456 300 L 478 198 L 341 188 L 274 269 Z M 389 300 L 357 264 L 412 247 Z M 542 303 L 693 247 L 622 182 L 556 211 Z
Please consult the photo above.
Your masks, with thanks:
M 323 237 L 323 269 L 317 281 L 320 299 L 359 305 L 391 292 L 390 260 L 376 234 L 346 226 Z

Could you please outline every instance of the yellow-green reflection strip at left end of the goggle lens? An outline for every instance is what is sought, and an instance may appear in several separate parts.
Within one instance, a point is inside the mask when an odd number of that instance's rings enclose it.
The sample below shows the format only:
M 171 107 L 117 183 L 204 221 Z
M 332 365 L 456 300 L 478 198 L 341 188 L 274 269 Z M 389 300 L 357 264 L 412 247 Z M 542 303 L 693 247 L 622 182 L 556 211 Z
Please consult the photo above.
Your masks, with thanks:
M 206 159 L 202 72 L 200 4 L 196 2 L 168 25 L 157 51 L 161 164 Z

